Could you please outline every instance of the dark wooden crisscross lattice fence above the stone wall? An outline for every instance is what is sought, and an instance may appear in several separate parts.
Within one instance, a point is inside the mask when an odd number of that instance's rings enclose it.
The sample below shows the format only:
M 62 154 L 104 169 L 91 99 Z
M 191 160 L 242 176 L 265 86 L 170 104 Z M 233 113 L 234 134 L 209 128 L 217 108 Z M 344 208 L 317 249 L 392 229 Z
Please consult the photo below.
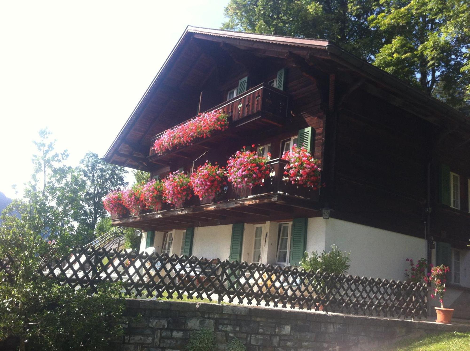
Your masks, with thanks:
M 126 295 L 189 298 L 396 318 L 427 317 L 427 287 L 195 256 L 76 248 L 40 274 L 73 288 L 122 281 Z

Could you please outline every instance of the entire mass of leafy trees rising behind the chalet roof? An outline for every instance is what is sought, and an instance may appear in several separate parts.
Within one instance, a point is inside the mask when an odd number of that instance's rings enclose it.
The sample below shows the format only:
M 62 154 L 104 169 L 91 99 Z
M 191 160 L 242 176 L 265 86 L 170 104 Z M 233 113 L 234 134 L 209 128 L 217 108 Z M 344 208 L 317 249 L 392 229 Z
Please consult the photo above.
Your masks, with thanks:
M 470 2 L 230 0 L 224 29 L 327 39 L 464 113 Z

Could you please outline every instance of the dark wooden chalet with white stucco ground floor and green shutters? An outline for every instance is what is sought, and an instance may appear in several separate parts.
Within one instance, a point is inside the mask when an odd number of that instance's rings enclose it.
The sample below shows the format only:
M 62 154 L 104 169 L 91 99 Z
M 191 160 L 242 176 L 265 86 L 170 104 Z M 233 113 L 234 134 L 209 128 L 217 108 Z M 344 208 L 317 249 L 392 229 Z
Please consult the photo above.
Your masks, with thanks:
M 155 154 L 165 130 L 215 109 L 227 130 Z M 299 138 L 321 161 L 321 191 L 282 179 Z M 251 144 L 272 155 L 265 186 L 113 224 L 144 230 L 142 248 L 261 263 L 336 244 L 351 274 L 375 278 L 427 257 L 452 266 L 455 291 L 470 287 L 469 116 L 327 40 L 188 27 L 104 159 L 163 178 Z

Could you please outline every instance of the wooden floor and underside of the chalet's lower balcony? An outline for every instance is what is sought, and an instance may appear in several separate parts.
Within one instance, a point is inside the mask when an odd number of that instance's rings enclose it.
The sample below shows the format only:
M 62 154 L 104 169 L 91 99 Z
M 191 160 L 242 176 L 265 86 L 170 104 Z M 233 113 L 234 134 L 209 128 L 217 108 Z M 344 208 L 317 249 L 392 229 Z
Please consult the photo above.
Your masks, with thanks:
M 167 231 L 186 227 L 231 223 L 287 221 L 297 217 L 320 217 L 318 201 L 283 193 L 263 193 L 243 199 L 230 199 L 183 208 L 113 219 L 113 225 L 144 231 Z

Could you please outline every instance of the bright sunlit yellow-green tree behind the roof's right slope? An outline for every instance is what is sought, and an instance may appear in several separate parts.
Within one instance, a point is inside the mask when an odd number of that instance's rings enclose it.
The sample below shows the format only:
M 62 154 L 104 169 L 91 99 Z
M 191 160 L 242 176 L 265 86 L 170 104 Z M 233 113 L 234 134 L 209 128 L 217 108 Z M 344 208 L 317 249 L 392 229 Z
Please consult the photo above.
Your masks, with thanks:
M 381 0 L 370 25 L 385 38 L 375 64 L 456 108 L 466 109 L 470 2 Z M 439 89 L 436 89 L 439 87 Z

